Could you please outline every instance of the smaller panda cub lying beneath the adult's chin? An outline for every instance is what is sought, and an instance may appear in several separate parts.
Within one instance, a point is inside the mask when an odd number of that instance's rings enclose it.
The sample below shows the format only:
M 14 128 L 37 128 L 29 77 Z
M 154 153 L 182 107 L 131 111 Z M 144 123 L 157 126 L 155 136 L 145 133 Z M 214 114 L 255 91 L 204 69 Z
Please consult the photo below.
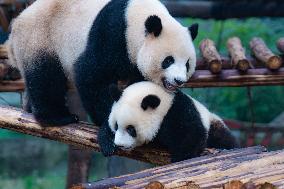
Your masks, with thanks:
M 206 147 L 239 146 L 221 118 L 181 91 L 168 93 L 144 81 L 123 92 L 111 86 L 110 94 L 115 103 L 98 137 L 105 156 L 151 141 L 166 147 L 172 162 L 199 156 Z

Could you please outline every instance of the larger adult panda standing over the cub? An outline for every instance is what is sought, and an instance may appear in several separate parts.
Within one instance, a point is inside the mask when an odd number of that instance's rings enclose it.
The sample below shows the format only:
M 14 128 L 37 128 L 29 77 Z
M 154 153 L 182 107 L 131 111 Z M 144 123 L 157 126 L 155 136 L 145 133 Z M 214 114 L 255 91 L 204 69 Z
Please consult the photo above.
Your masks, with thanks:
M 9 59 L 44 125 L 77 121 L 67 83 L 100 125 L 113 103 L 109 85 L 151 80 L 174 91 L 196 66 L 198 25 L 183 27 L 158 0 L 37 0 L 11 28 Z

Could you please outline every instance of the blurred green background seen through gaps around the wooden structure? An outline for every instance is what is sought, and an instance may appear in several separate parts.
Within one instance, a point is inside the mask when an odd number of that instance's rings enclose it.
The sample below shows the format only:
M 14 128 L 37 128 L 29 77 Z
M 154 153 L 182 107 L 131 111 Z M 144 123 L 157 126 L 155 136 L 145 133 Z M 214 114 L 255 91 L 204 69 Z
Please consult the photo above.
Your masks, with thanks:
M 14 5 L 10 7 L 2 5 L 2 7 L 8 11 L 9 15 L 22 8 Z M 275 42 L 284 36 L 284 18 L 263 17 L 225 20 L 178 18 L 178 20 L 185 26 L 194 22 L 200 24 L 200 32 L 195 41 L 197 49 L 202 39 L 210 38 L 216 42 L 217 48 L 224 56 L 228 54 L 226 41 L 229 37 L 240 37 L 247 49 L 249 49 L 248 44 L 252 37 L 261 37 L 270 49 L 278 53 Z M 0 26 L 0 44 L 5 42 L 7 36 L 6 29 L 3 25 Z M 201 101 L 209 110 L 219 114 L 224 119 L 267 125 L 275 123 L 275 120 L 278 120 L 278 122 L 282 120 L 279 127 L 284 126 L 283 86 L 184 89 L 184 92 Z M 21 94 L 18 93 L 0 93 L 2 105 L 20 107 L 20 99 Z M 234 134 L 245 143 L 246 138 L 240 132 L 236 130 Z M 262 134 L 259 135 L 259 141 L 261 141 L 261 137 L 263 137 Z M 274 138 L 277 138 L 277 135 Z M 277 144 L 271 144 L 268 147 L 269 149 L 283 148 L 283 146 Z M 67 173 L 67 153 L 68 146 L 62 143 L 0 129 L 0 188 L 64 188 Z M 94 153 L 90 181 L 109 176 L 110 167 L 107 161 L 100 154 Z M 144 165 L 141 165 L 141 168 L 143 167 Z M 131 167 L 130 163 L 124 169 L 136 171 L 140 168 L 137 164 Z M 111 176 L 113 175 L 115 173 Z

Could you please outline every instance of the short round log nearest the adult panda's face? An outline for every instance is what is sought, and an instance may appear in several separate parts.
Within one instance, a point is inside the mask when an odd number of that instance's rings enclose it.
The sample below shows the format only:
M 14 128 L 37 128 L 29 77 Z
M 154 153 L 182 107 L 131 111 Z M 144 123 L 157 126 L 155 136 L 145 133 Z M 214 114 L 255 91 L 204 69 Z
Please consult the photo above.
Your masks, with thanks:
M 209 70 L 214 74 L 220 73 L 222 70 L 222 61 L 214 42 L 210 39 L 204 39 L 200 43 L 200 51 L 207 62 Z

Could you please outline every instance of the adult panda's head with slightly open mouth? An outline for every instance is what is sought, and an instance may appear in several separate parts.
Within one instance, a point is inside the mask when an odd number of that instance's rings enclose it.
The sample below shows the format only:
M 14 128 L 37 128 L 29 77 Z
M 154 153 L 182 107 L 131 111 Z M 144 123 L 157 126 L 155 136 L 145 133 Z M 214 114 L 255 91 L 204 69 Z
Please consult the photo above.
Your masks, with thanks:
M 149 16 L 145 21 L 145 40 L 138 52 L 137 65 L 142 75 L 175 91 L 192 76 L 196 67 L 193 40 L 198 24 L 183 27 L 172 17 Z

